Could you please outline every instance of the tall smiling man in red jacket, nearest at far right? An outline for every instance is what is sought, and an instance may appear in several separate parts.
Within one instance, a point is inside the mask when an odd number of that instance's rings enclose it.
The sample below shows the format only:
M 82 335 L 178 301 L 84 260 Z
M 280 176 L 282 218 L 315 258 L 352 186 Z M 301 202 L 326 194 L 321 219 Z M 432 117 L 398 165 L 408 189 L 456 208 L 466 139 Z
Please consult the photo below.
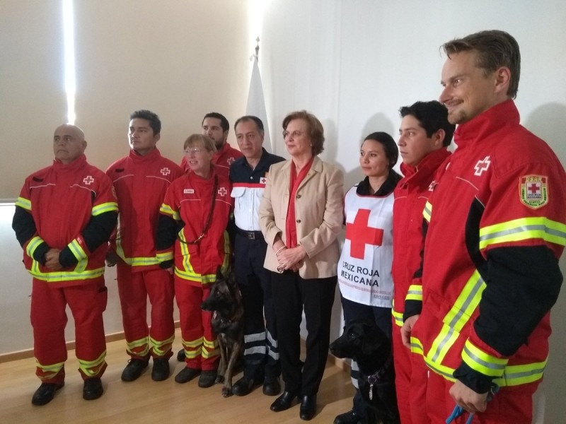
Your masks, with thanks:
M 443 47 L 440 100 L 458 148 L 423 211 L 422 299 L 409 290 L 403 342 L 430 369 L 433 423 L 459 408 L 483 424 L 531 423 L 562 283 L 566 173 L 519 124 L 516 40 L 492 30 Z

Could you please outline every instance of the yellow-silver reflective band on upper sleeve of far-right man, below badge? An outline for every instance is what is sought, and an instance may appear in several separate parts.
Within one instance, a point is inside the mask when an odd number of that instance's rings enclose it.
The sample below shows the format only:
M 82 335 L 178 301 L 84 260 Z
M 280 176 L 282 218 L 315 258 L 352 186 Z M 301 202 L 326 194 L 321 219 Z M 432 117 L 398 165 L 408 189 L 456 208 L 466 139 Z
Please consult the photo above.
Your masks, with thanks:
M 480 249 L 490 245 L 540 239 L 566 246 L 566 225 L 545 217 L 519 218 L 480 228 Z

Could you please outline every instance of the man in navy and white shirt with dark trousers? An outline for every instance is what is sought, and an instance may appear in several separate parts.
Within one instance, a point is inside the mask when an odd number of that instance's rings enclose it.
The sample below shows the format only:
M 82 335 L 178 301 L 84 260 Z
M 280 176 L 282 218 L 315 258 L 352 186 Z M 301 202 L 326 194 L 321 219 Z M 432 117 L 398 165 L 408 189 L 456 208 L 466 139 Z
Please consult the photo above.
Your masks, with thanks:
M 275 396 L 281 391 L 281 367 L 271 278 L 263 267 L 267 243 L 260 230 L 258 211 L 267 171 L 272 164 L 284 159 L 267 153 L 262 147 L 263 122 L 258 117 L 241 117 L 234 128 L 243 153 L 243 157 L 231 165 L 230 179 L 236 225 L 234 269 L 244 307 L 244 369 L 232 393 L 246 396 L 255 385 L 263 383 L 263 393 Z

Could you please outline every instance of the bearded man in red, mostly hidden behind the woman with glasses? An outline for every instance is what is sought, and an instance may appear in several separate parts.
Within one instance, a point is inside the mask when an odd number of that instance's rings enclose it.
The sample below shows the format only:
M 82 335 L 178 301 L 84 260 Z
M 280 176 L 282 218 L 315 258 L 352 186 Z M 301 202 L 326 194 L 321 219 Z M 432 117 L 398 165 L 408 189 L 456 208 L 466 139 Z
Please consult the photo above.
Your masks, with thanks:
M 212 141 L 214 141 L 214 146 L 216 146 L 216 153 L 214 153 L 214 157 L 212 158 L 212 164 L 216 167 L 216 172 L 228 177 L 230 165 L 234 160 L 242 156 L 241 151 L 233 148 L 228 141 L 226 141 L 230 130 L 228 119 L 221 113 L 209 112 L 202 118 L 201 126 L 202 134 L 209 136 Z M 181 160 L 181 167 L 186 172 L 189 170 L 185 156 L 183 156 L 183 160 Z

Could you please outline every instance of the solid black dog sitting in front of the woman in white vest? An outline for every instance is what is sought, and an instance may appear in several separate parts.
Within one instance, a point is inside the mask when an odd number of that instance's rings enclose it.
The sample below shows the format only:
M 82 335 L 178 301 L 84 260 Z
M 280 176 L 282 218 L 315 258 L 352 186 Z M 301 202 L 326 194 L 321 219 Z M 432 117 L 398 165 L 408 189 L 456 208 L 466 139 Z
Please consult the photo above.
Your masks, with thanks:
M 391 341 L 369 319 L 354 319 L 330 344 L 337 358 L 352 358 L 359 367 L 358 387 L 366 404 L 366 423 L 400 423 L 395 394 Z

